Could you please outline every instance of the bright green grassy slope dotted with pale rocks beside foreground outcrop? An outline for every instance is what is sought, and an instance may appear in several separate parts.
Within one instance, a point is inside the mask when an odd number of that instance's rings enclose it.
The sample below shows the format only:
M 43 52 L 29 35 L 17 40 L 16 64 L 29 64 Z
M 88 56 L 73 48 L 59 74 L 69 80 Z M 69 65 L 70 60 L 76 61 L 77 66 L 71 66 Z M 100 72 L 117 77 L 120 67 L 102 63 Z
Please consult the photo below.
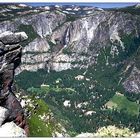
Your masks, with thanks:
M 69 137 L 64 126 L 55 118 L 49 106 L 38 96 L 17 92 L 29 125 L 29 137 Z

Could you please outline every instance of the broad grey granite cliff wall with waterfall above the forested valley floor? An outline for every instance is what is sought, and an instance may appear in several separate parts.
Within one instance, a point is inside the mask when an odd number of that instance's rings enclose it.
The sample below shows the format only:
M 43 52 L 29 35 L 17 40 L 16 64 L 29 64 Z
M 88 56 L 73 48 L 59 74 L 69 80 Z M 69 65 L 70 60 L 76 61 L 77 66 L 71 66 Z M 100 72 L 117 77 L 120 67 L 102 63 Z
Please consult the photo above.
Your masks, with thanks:
M 106 66 L 115 67 L 122 63 L 126 68 L 130 64 L 121 56 L 128 55 L 132 49 L 127 42 L 139 40 L 139 14 L 126 9 L 105 10 L 86 6 L 35 8 L 19 5 L 3 5 L 1 9 L 0 32 L 24 30 L 29 36 L 24 43 L 22 65 L 16 70 L 17 73 L 38 69 L 47 69 L 48 72 L 88 69 L 98 63 L 100 55 L 104 55 Z M 133 7 L 133 11 L 138 9 Z M 122 73 L 128 70 L 125 71 L 125 68 Z M 138 86 L 135 80 L 132 82 L 134 88 Z M 126 81 L 122 83 L 124 87 L 128 85 Z

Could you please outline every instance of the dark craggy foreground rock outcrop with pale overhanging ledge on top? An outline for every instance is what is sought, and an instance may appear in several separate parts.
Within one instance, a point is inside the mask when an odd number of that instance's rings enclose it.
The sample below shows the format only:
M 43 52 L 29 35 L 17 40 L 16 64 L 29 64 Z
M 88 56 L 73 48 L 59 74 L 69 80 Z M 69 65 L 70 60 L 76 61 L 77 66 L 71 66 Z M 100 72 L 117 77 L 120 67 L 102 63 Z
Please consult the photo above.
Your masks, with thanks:
M 21 128 L 28 133 L 24 111 L 11 89 L 14 71 L 21 62 L 22 48 L 19 43 L 27 38 L 25 32 L 12 33 L 7 31 L 0 34 L 0 125 L 2 125 L 0 131 L 9 129 L 9 132 L 2 133 L 0 136 L 4 136 L 4 134 L 5 137 L 14 136 L 17 129 Z M 13 130 L 10 130 L 9 127 Z M 18 135 L 16 132 L 15 137 L 18 136 L 23 135 Z

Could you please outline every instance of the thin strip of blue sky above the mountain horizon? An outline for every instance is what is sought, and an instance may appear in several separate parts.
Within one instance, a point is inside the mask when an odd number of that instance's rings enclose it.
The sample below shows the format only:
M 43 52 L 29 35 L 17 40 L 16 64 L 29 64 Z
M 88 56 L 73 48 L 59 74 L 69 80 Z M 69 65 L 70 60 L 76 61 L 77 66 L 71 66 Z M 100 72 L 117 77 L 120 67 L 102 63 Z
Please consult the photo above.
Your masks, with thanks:
M 136 3 L 26 3 L 31 6 L 46 6 L 46 5 L 85 5 L 85 6 L 94 6 L 100 8 L 114 8 L 114 7 L 126 7 L 132 6 Z

